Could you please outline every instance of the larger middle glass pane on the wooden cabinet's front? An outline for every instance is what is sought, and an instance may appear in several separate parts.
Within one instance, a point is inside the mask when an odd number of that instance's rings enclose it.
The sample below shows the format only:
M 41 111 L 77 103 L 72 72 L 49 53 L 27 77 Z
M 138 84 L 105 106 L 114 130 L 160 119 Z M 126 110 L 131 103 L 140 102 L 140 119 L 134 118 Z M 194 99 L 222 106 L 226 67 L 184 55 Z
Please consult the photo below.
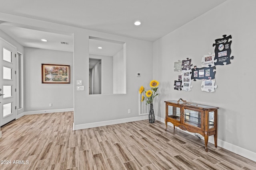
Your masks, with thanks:
M 201 111 L 184 109 L 184 123 L 201 128 Z

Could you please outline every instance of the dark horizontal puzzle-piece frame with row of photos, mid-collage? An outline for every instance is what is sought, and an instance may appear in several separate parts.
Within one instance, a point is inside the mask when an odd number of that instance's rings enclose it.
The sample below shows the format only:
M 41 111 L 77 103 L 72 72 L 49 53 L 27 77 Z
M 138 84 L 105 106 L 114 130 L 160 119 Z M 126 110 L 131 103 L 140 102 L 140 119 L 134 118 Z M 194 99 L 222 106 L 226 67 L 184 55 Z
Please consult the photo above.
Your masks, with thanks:
M 196 66 L 192 68 L 191 72 L 191 79 L 208 79 L 210 77 L 211 79 L 215 78 L 215 73 L 216 73 L 216 66 L 213 67 L 202 67 L 202 68 L 197 68 Z

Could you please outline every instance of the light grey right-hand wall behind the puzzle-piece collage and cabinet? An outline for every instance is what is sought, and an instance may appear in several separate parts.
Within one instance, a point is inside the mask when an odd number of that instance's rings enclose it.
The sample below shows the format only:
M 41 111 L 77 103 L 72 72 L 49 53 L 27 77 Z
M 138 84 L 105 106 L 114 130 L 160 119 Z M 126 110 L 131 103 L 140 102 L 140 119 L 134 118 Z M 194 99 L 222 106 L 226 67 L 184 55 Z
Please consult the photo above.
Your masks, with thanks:
M 220 107 L 218 139 L 224 143 L 256 152 L 254 57 L 256 1 L 228 0 L 154 42 L 153 78 L 160 81 L 156 115 L 165 117 L 166 100 L 182 98 L 189 102 Z M 216 66 L 216 92 L 202 92 L 201 80 L 192 81 L 192 91 L 174 90 L 174 62 L 192 59 L 200 66 L 202 55 L 214 52 L 215 39 L 232 35 L 229 65 Z M 233 149 L 233 148 L 231 148 Z M 233 150 L 234 151 L 234 150 Z

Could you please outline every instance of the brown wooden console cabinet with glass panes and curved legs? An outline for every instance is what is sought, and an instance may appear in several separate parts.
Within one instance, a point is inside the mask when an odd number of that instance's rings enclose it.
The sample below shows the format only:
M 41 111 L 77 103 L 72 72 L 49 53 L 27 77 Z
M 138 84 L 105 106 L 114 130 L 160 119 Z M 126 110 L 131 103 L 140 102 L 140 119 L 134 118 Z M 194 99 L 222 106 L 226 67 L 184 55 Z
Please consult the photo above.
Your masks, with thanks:
M 217 147 L 217 110 L 219 107 L 188 104 L 179 101 L 165 101 L 165 125 L 171 122 L 184 131 L 199 133 L 204 137 L 205 150 L 208 151 L 208 137 L 214 135 Z

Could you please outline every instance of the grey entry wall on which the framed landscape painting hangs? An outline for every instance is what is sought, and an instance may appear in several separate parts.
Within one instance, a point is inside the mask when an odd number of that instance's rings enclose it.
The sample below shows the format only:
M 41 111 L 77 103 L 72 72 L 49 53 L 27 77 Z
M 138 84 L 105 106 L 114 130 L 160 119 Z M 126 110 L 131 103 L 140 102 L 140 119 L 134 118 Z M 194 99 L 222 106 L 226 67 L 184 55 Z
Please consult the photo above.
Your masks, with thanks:
M 73 53 L 28 47 L 24 51 L 25 111 L 73 108 Z M 42 84 L 42 63 L 70 65 L 70 84 Z

